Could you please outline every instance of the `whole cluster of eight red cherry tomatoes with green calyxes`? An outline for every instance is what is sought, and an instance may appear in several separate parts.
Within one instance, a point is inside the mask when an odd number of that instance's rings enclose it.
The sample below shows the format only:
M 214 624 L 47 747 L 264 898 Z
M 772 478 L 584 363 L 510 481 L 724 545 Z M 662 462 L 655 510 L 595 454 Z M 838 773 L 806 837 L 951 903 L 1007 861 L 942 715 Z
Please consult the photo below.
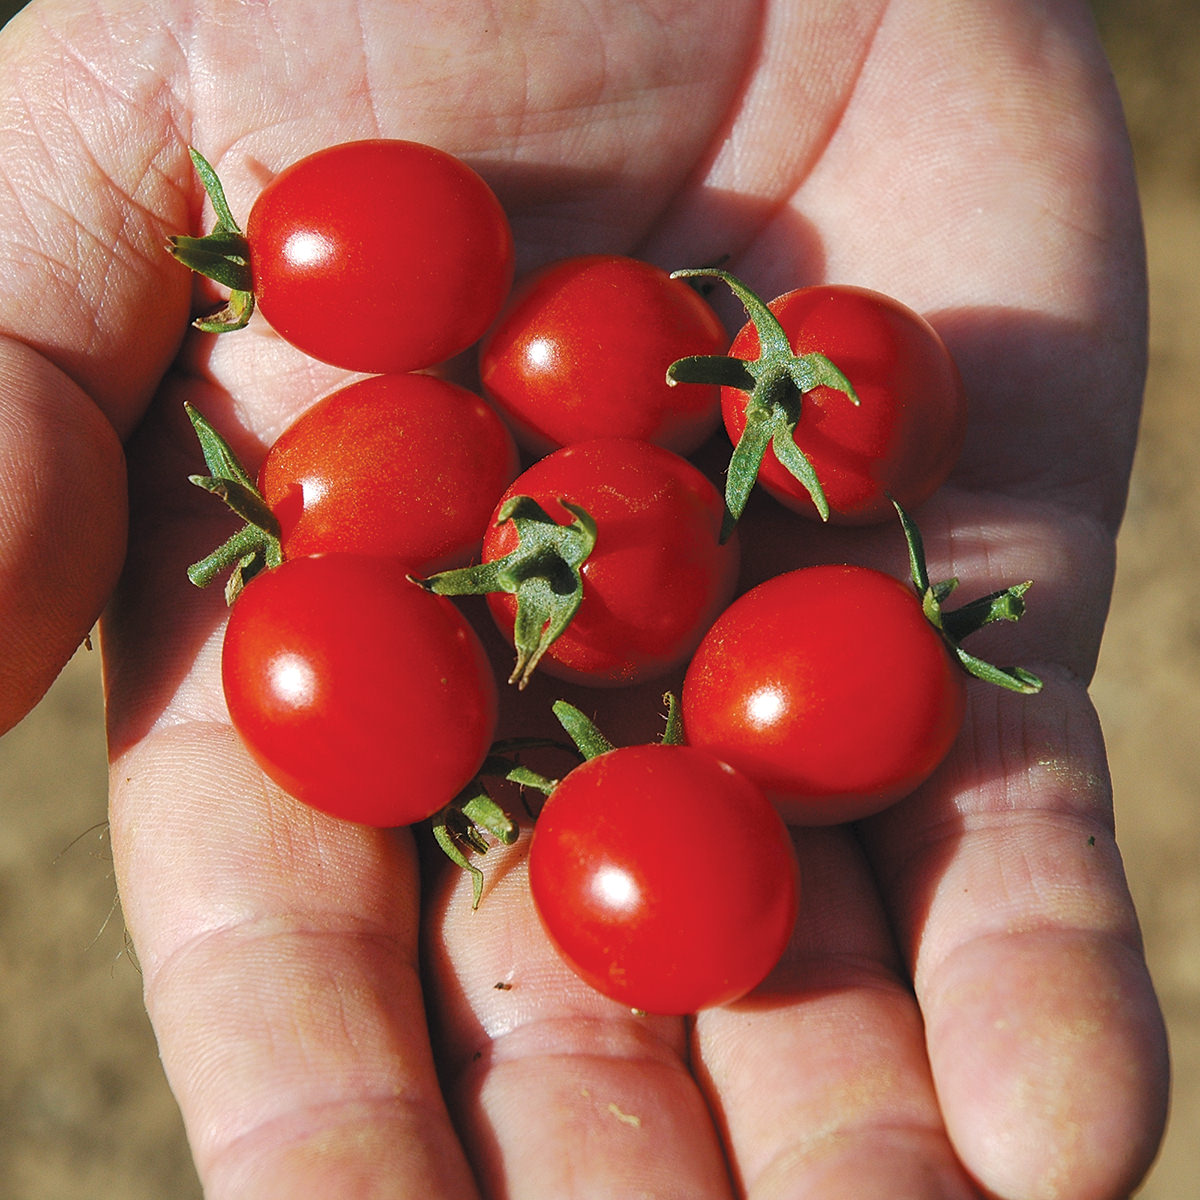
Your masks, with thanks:
M 768 305 L 722 270 L 618 256 L 512 290 L 496 196 L 412 142 L 295 163 L 245 233 L 193 161 L 216 228 L 172 248 L 230 290 L 199 328 L 241 328 L 257 305 L 301 350 L 365 376 L 316 400 L 253 475 L 190 410 L 208 464 L 193 481 L 245 522 L 191 577 L 227 577 L 223 684 L 250 752 L 335 816 L 433 818 L 476 880 L 469 850 L 516 833 L 485 780 L 538 787 L 530 890 L 583 978 L 658 1013 L 756 986 L 798 911 L 785 818 L 856 820 L 910 793 L 958 734 L 967 671 L 1038 686 L 961 647 L 1020 616 L 1027 584 L 946 611 L 954 583 L 925 576 L 907 516 L 964 436 L 937 334 L 862 288 Z M 732 344 L 691 276 L 740 299 Z M 482 395 L 430 373 L 476 343 Z M 688 457 L 722 420 L 724 494 Z M 914 587 L 823 565 L 736 596 L 756 482 L 814 520 L 899 514 Z M 511 642 L 511 688 L 685 667 L 661 740 L 614 748 L 563 703 L 577 764 L 557 780 L 522 766 L 520 739 L 497 740 L 508 689 L 462 595 L 486 596 Z M 678 886 L 680 862 L 697 886 Z

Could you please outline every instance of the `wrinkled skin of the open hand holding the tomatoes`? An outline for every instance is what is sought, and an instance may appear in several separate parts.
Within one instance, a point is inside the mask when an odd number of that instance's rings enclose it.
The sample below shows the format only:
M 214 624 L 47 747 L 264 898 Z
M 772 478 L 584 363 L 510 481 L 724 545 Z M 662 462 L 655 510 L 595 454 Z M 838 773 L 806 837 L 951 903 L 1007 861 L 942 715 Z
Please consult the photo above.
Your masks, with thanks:
M 538 932 L 523 842 L 472 913 L 409 834 L 302 810 L 230 733 L 222 600 L 182 570 L 228 521 L 185 481 L 181 403 L 252 457 L 343 380 L 259 320 L 187 332 L 217 296 L 163 250 L 211 220 L 186 146 L 244 217 L 302 154 L 379 134 L 479 169 L 520 270 L 728 254 L 767 295 L 860 283 L 962 368 L 965 455 L 919 514 L 931 574 L 1036 578 L 996 636 L 1046 689 L 972 686 L 918 794 L 798 838 L 805 913 L 742 1003 L 632 1016 Z M 1086 684 L 1145 280 L 1082 2 L 35 0 L 0 41 L 0 727 L 109 602 L 121 900 L 209 1196 L 1129 1193 L 1166 1062 Z M 797 545 L 751 508 L 745 582 L 904 569 L 894 530 Z

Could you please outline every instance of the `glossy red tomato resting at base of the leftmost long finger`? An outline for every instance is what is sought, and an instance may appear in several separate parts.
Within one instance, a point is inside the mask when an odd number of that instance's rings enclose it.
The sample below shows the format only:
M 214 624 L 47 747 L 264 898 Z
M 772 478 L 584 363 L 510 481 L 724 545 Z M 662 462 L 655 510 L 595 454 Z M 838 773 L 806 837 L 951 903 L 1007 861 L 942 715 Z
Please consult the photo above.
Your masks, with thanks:
M 476 635 L 396 559 L 323 554 L 256 576 L 229 613 L 221 670 L 263 770 L 347 821 L 422 821 L 469 782 L 494 734 Z

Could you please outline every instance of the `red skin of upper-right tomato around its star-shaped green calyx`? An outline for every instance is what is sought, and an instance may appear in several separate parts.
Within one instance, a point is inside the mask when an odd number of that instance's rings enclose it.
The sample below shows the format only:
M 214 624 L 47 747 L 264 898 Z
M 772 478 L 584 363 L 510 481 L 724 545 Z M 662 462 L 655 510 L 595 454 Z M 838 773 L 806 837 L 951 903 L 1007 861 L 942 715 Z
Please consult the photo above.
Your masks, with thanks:
M 941 337 L 918 313 L 868 288 L 798 288 L 767 306 L 797 354 L 820 352 L 850 379 L 856 407 L 820 386 L 800 401 L 796 444 L 808 455 L 829 502 L 830 521 L 865 524 L 894 517 L 889 494 L 914 509 L 946 480 L 966 432 L 966 396 Z M 746 324 L 730 354 L 758 356 Z M 721 389 L 721 414 L 734 443 L 745 430 L 746 394 Z M 778 500 L 816 517 L 816 506 L 768 448 L 758 481 Z

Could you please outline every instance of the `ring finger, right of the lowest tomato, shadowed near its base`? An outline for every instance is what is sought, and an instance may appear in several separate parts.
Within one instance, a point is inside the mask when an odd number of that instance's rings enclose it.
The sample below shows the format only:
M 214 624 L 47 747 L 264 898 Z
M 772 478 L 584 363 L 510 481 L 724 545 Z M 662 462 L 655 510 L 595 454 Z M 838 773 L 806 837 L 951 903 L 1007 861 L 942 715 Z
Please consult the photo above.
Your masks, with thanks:
M 846 828 L 799 829 L 792 944 L 745 1000 L 698 1014 L 696 1069 L 742 1193 L 966 1200 L 920 1014 Z

